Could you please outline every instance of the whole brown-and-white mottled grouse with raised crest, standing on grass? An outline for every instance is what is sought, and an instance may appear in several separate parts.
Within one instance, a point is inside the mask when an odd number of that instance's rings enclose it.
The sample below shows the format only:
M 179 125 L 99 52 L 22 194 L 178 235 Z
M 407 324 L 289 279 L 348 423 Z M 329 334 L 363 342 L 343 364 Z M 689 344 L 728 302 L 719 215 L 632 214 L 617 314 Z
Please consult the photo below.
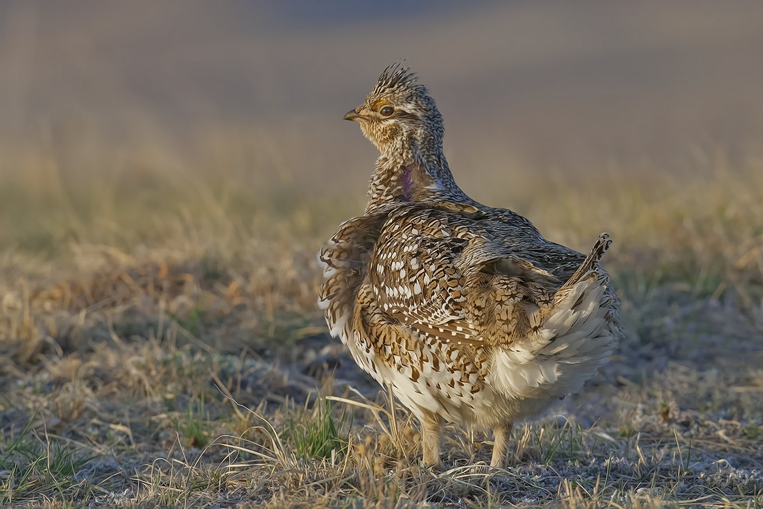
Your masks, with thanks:
M 318 257 L 330 332 L 421 420 L 425 462 L 439 463 L 446 419 L 493 428 L 500 465 L 513 422 L 579 391 L 614 348 L 617 296 L 599 265 L 609 237 L 584 256 L 466 196 L 442 117 L 407 69 L 388 67 L 346 118 L 381 156 L 365 215 Z

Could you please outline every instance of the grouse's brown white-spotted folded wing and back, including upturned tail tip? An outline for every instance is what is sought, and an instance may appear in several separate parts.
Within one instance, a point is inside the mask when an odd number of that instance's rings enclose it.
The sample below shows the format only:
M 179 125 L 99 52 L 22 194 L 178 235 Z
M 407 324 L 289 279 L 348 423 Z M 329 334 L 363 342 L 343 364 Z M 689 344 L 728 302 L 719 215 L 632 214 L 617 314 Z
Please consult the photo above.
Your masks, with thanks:
M 610 241 L 603 235 L 586 258 L 543 241 L 524 222 L 507 221 L 518 217 L 501 209 L 464 214 L 436 204 L 391 212 L 368 261 L 376 305 L 446 342 L 494 344 L 528 336 L 530 315 L 593 270 Z

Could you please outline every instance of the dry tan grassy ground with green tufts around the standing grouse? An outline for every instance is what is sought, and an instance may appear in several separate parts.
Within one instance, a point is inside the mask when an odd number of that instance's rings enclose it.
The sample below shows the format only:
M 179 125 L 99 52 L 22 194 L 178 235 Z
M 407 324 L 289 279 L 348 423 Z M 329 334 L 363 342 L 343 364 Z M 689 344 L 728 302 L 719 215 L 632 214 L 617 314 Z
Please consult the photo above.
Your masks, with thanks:
M 761 507 L 763 164 L 708 166 L 514 191 L 555 241 L 613 233 L 629 336 L 583 394 L 517 426 L 508 468 L 449 427 L 443 473 L 315 309 L 314 253 L 359 200 L 27 186 L 16 203 L 46 208 L 17 211 L 30 226 L 0 253 L 0 504 Z

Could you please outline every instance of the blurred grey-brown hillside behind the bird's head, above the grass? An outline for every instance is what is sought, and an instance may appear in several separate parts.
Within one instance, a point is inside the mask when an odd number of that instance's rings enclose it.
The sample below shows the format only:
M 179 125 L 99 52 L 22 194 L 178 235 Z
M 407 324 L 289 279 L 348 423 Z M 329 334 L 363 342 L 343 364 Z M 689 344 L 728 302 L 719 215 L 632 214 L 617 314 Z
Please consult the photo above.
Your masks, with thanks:
M 375 151 L 340 119 L 402 58 L 475 193 L 507 172 L 759 152 L 761 2 L 384 5 L 4 2 L 0 171 L 28 180 L 47 154 L 71 186 L 169 171 L 362 193 Z

